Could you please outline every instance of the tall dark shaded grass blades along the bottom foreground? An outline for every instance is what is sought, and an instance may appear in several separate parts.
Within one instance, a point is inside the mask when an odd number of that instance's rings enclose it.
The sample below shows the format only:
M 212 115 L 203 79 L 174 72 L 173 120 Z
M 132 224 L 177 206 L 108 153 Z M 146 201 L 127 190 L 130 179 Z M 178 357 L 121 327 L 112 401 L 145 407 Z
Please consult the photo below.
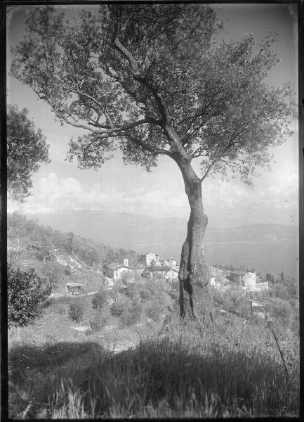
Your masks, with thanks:
M 168 339 L 103 353 L 55 380 L 53 418 L 295 416 L 298 385 L 262 354 L 190 352 Z M 294 374 L 293 374 L 294 375 Z M 294 380 L 294 378 L 293 378 Z

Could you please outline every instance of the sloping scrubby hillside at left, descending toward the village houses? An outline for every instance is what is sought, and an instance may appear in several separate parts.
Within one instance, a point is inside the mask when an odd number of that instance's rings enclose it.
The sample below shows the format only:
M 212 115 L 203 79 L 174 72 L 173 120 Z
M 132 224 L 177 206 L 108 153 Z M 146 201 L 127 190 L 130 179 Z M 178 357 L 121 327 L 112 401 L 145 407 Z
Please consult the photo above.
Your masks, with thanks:
M 88 290 L 95 289 L 102 281 L 99 271 L 105 264 L 122 263 L 126 257 L 131 264 L 137 262 L 133 250 L 110 248 L 72 231 L 63 233 L 24 215 L 8 214 L 8 262 L 22 269 L 34 267 L 59 290 L 68 281 L 82 280 L 88 281 Z

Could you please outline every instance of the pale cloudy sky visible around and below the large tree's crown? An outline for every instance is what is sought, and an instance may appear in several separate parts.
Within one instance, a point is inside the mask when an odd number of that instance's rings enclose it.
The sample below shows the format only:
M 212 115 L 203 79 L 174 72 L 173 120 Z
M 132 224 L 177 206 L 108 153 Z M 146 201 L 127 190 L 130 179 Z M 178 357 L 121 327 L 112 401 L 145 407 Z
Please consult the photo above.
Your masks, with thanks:
M 66 6 L 67 9 L 76 6 Z M 86 8 L 88 5 L 86 5 Z M 18 6 L 8 16 L 8 70 L 11 46 L 18 44 L 25 30 L 26 11 Z M 291 82 L 297 98 L 298 40 L 296 5 L 217 4 L 213 9 L 223 20 L 226 39 L 239 39 L 253 33 L 256 39 L 270 30 L 277 32 L 274 49 L 280 62 L 267 77 L 267 84 L 280 87 Z M 65 210 L 107 210 L 144 214 L 154 218 L 189 216 L 190 208 L 180 170 L 168 157 L 147 173 L 136 165 L 124 166 L 120 153 L 98 170 L 80 170 L 77 162 L 65 161 L 71 136 L 77 139 L 86 131 L 61 126 L 50 108 L 29 87 L 8 75 L 8 103 L 27 108 L 36 127 L 50 143 L 51 163 L 42 164 L 33 176 L 32 195 L 25 203 L 8 198 L 8 212 L 60 212 Z M 202 184 L 204 212 L 213 227 L 256 223 L 298 224 L 298 122 L 294 135 L 272 150 L 271 171 L 260 170 L 253 186 L 238 179 L 206 179 Z M 171 162 L 172 161 L 172 162 Z

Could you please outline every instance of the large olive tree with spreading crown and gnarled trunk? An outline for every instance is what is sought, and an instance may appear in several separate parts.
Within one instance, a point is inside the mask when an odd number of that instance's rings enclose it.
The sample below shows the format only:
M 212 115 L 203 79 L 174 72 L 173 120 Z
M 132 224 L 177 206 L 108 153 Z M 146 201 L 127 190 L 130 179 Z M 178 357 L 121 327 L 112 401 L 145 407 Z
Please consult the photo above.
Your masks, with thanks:
M 86 6 L 70 20 L 46 6 L 33 8 L 13 51 L 12 74 L 62 124 L 86 129 L 68 151 L 79 167 L 97 169 L 116 150 L 148 171 L 159 155 L 176 162 L 190 204 L 181 316 L 185 292 L 194 314 L 197 290 L 209 283 L 202 182 L 239 174 L 249 183 L 257 166 L 269 165 L 270 148 L 290 134 L 294 113 L 289 85 L 264 81 L 277 61 L 272 35 L 228 42 L 218 39 L 221 29 L 201 4 Z

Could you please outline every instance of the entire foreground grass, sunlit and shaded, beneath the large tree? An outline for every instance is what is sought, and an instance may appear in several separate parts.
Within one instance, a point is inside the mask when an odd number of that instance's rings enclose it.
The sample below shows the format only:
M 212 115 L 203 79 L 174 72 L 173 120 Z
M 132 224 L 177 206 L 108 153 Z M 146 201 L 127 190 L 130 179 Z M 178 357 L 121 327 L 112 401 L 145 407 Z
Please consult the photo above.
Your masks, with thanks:
M 289 383 L 270 331 L 237 321 L 173 318 L 161 338 L 117 354 L 98 335 L 31 347 L 15 338 L 11 417 L 297 416 L 298 338 L 286 332 L 281 344 Z

